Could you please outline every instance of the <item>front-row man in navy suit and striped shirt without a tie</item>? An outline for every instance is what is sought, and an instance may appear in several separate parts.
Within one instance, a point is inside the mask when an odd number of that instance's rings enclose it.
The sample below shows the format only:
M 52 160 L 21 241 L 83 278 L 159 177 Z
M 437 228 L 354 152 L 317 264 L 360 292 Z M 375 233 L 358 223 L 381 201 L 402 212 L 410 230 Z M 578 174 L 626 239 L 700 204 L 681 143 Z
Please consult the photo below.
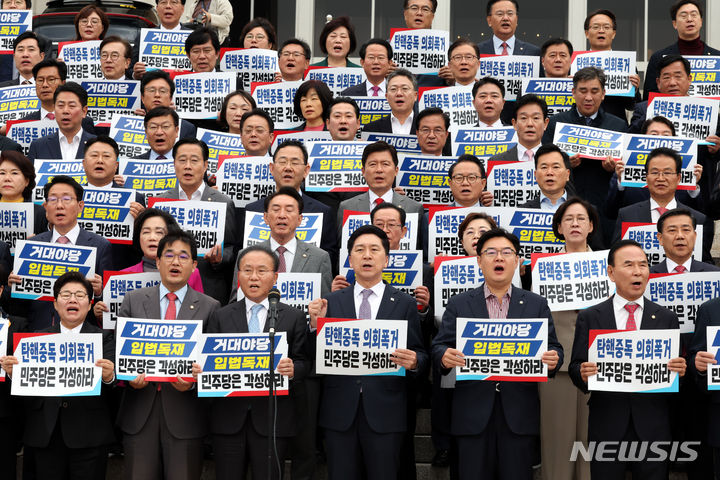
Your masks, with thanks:
M 547 301 L 512 286 L 518 268 L 520 241 L 503 229 L 491 229 L 477 243 L 478 265 L 485 283 L 456 295 L 443 314 L 433 341 L 433 362 L 442 374 L 465 365 L 456 349 L 456 321 L 470 318 L 547 318 L 548 351 L 542 362 L 552 377 L 563 362 Z M 461 381 L 455 385 L 451 432 L 457 441 L 460 478 L 531 479 L 540 435 L 537 384 L 526 382 Z

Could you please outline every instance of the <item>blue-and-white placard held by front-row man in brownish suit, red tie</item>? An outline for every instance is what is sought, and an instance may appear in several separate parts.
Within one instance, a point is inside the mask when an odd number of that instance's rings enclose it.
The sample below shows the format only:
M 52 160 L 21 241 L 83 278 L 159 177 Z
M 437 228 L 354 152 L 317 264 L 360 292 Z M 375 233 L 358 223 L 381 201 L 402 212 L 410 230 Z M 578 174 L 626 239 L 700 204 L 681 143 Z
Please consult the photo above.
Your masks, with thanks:
M 200 359 L 202 320 L 117 317 L 115 375 L 148 382 L 194 382 L 192 364 Z

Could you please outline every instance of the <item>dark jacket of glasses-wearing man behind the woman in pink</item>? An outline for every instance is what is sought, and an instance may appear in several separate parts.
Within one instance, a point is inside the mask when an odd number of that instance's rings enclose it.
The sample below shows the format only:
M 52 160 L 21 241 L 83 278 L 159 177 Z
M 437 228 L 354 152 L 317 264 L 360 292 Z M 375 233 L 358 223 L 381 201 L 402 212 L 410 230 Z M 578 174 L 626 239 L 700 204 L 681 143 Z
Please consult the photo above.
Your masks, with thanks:
M 178 188 L 175 187 L 170 190 L 166 190 L 160 195 L 161 198 L 180 198 Z M 235 256 L 237 254 L 237 225 L 235 203 L 227 195 L 210 188 L 207 185 L 200 200 L 204 202 L 224 202 L 226 206 L 225 210 L 225 243 L 223 244 L 223 258 L 220 263 L 213 265 L 204 258 L 198 260 L 198 270 L 200 270 L 200 277 L 202 278 L 203 288 L 208 294 L 214 299 L 218 300 L 223 305 L 228 302 L 230 296 L 230 288 L 232 285 L 230 276 L 232 274 L 233 265 L 235 263 Z M 242 245 L 242 243 L 240 243 Z

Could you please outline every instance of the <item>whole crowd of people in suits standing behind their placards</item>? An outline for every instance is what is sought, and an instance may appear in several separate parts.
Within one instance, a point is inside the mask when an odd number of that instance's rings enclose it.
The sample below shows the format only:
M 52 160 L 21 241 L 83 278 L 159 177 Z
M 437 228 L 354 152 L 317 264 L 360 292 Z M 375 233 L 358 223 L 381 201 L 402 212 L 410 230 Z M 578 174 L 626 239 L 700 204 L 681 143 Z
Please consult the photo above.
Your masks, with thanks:
M 437 0 L 398 4 L 407 28 L 431 29 Z M 30 7 L 30 0 L 3 0 L 3 9 Z M 214 72 L 221 44 L 227 44 L 232 6 L 228 0 L 157 0 L 158 28 L 193 29 L 185 42 L 192 72 Z M 695 189 L 679 189 L 683 165 L 673 149 L 656 148 L 644 163 L 647 188 L 621 183 L 623 161 L 569 156 L 553 144 L 559 123 L 614 132 L 676 136 L 673 122 L 648 117 L 648 95 L 688 96 L 691 65 L 685 56 L 720 55 L 701 40 L 703 8 L 697 0 L 678 0 L 670 11 L 678 40 L 655 52 L 641 88 L 630 75 L 635 96 L 606 96 L 602 69 L 585 67 L 570 75 L 573 45 L 552 38 L 536 46 L 517 38 L 517 0 L 489 0 L 490 39 L 477 44 L 457 38 L 447 50 L 448 64 L 435 74 L 415 75 L 397 67 L 393 48 L 383 38 L 358 42 L 352 21 L 338 17 L 320 33 L 325 58 L 313 65 L 354 67 L 366 80 L 334 95 L 318 80 L 302 82 L 294 113 L 298 131 L 327 131 L 333 141 L 355 141 L 359 131 L 415 136 L 424 156 L 450 157 L 450 116 L 439 107 L 418 109 L 420 87 L 467 86 L 477 112 L 476 128 L 514 128 L 516 146 L 489 160 L 531 162 L 538 195 L 518 208 L 552 213 L 552 230 L 564 241 L 563 253 L 607 249 L 607 274 L 615 293 L 585 310 L 550 312 L 545 298 L 532 293 L 530 266 L 522 265 L 520 240 L 485 213 L 497 205 L 487 188 L 486 160 L 464 154 L 452 158 L 447 185 L 454 207 L 472 207 L 458 226 L 464 253 L 476 257 L 482 282 L 449 299 L 445 312 L 434 312 L 433 266 L 427 263 L 428 213 L 397 187 L 399 157 L 384 141 L 364 147 L 361 172 L 365 192 L 306 192 L 310 166 L 303 142 L 288 140 L 274 150 L 275 123 L 248 92 L 225 97 L 217 120 L 181 119 L 175 110 L 170 74 L 138 61 L 134 46 L 106 36 L 107 15 L 99 6 L 82 9 L 75 19 L 76 40 L 101 40 L 102 73 L 108 80 L 140 81 L 142 118 L 149 149 L 144 160 L 171 160 L 176 186 L 159 196 L 224 205 L 224 242 L 198 257 L 196 239 L 178 221 L 148 206 L 136 193 L 132 245 L 110 244 L 78 223 L 84 188 L 122 188 L 120 148 L 106 128 L 88 117 L 88 93 L 68 79 L 65 63 L 50 52 L 47 39 L 31 31 L 13 42 L 12 55 L 0 55 L 0 87 L 32 84 L 40 108 L 26 120 L 55 121 L 58 131 L 37 138 L 27 154 L 13 138 L 0 133 L 0 211 L 3 204 L 32 202 L 38 175 L 36 161 L 81 160 L 86 184 L 58 175 L 43 188 L 35 205 L 33 241 L 94 247 L 95 274 L 69 272 L 54 283 L 54 301 L 23 300 L 11 295 L 21 282 L 9 246 L 0 242 L 0 306 L 11 320 L 10 333 L 102 333 L 102 393 L 95 397 L 18 397 L 10 394 L 12 341 L 1 352 L 7 381 L 0 384 L 0 478 L 15 479 L 16 453 L 23 452 L 23 478 L 105 478 L 108 453 L 124 456 L 124 478 L 199 479 L 203 462 L 212 458 L 217 478 L 280 478 L 286 460 L 293 479 L 315 478 L 326 463 L 331 479 L 415 478 L 414 432 L 419 407 L 432 409 L 433 465 L 449 467 L 451 478 L 530 479 L 541 465 L 545 479 L 665 479 L 670 469 L 690 479 L 720 478 L 720 426 L 717 392 L 707 391 L 707 371 L 717 363 L 708 353 L 706 327 L 720 325 L 717 302 L 703 304 L 694 334 L 683 334 L 682 348 L 668 363 L 682 378 L 678 393 L 591 392 L 588 379 L 598 367 L 588 360 L 591 330 L 679 329 L 673 311 L 644 296 L 650 273 L 720 271 L 711 256 L 714 221 L 720 218 L 717 161 L 720 136 L 698 146 L 692 172 Z M 482 19 L 478 19 L 481 22 Z M 590 13 L 584 24 L 590 50 L 610 51 L 618 21 L 609 10 Z M 242 30 L 244 48 L 277 50 L 277 82 L 303 80 L 311 62 L 307 41 L 280 41 L 263 18 Z M 308 39 L 309 40 L 309 39 Z M 360 64 L 350 60 L 359 47 Z M 575 49 L 585 50 L 576 45 Z M 540 57 L 542 76 L 572 78 L 574 105 L 550 115 L 546 101 L 534 94 L 505 101 L 505 85 L 478 78 L 480 56 Z M 385 98 L 390 114 L 362 126 L 353 97 Z M 274 192 L 236 207 L 215 187 L 209 174 L 210 151 L 197 129 L 216 129 L 241 137 L 247 156 L 266 157 Z M 267 240 L 243 249 L 245 216 L 261 212 L 270 229 Z M 347 212 L 368 212 L 370 225 L 357 228 L 343 244 Z M 322 214 L 319 246 L 297 238 L 303 214 Z M 383 281 L 391 251 L 405 237 L 407 215 L 417 214 L 417 250 L 422 250 L 423 284 L 411 294 Z M 643 245 L 622 239 L 624 223 L 652 223 L 665 258 L 650 265 Z M 702 256 L 694 257 L 698 225 L 703 226 Z M 341 252 L 347 253 L 353 278 L 341 275 Z M 288 357 L 277 372 L 290 380 L 290 394 L 278 398 L 274 412 L 264 397 L 201 399 L 194 382 L 116 378 L 114 332 L 102 329 L 103 274 L 110 271 L 159 272 L 161 283 L 128 292 L 120 317 L 202 320 L 207 333 L 253 333 L 268 328 L 268 294 L 278 273 L 319 273 L 321 298 L 305 312 L 280 304 L 276 329 L 287 332 Z M 520 288 L 514 277 L 520 271 Z M 238 292 L 242 295 L 239 297 Z M 238 300 L 238 298 L 241 298 Z M 381 319 L 407 323 L 407 345 L 390 354 L 405 376 L 319 375 L 315 369 L 318 319 Z M 542 354 L 549 381 L 495 382 L 455 379 L 465 365 L 456 347 L 458 318 L 547 319 L 548 349 Z M 12 337 L 10 337 L 12 338 Z M 5 355 L 6 354 L 6 355 Z M 201 373 L 199 364 L 193 374 Z M 275 428 L 268 430 L 268 416 Z M 695 443 L 692 461 L 570 460 L 575 442 L 627 441 Z M 268 464 L 268 443 L 275 463 Z

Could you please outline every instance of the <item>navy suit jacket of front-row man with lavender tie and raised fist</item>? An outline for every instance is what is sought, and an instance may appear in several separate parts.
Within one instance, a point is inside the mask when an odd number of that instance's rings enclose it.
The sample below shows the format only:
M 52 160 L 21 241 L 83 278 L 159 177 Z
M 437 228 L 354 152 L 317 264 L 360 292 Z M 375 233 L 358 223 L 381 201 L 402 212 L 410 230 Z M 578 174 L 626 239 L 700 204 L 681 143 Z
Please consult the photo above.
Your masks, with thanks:
M 328 318 L 357 318 L 353 288 L 351 285 L 328 295 Z M 407 348 L 417 354 L 417 368 L 406 374 L 422 378 L 428 356 L 422 346 L 415 299 L 385 285 L 377 319 L 408 322 Z M 314 336 L 311 338 L 314 342 Z M 407 429 L 407 379 L 382 375 L 324 377 L 318 424 L 323 428 L 346 431 L 355 419 L 360 402 L 363 402 L 365 417 L 374 432 L 400 433 Z

